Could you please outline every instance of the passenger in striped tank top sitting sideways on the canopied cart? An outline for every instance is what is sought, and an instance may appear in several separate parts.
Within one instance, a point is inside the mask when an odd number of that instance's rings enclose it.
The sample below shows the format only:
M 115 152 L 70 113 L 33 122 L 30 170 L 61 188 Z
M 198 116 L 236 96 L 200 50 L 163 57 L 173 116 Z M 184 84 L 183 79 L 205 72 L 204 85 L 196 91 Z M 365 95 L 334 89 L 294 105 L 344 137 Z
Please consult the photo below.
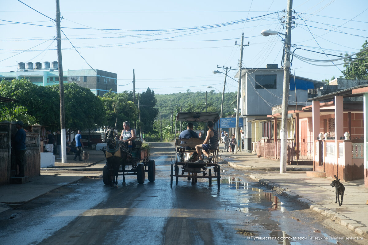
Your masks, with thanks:
M 215 129 L 213 129 L 213 122 L 208 121 L 207 127 L 208 127 L 208 131 L 206 134 L 205 141 L 203 141 L 203 144 L 195 146 L 195 150 L 197 151 L 198 158 L 199 158 L 198 161 L 195 161 L 197 163 L 204 163 L 202 154 L 200 152 L 201 149 L 202 149 L 203 154 L 207 156 L 207 163 L 210 163 L 212 161 L 212 158 L 209 156 L 208 151 L 217 149 L 217 146 L 219 144 L 219 133 Z

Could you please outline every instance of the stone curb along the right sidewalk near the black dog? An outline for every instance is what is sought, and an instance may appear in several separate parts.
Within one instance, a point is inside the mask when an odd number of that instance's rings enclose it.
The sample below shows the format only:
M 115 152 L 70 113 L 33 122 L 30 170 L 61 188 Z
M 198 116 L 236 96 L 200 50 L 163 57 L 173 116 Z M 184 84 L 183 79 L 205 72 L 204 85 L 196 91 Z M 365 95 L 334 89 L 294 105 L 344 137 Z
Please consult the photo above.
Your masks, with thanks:
M 307 198 L 300 197 L 298 194 L 292 192 L 292 191 L 286 191 L 285 188 L 280 187 L 279 185 L 266 180 L 262 179 L 261 177 L 257 177 L 255 175 L 250 175 L 250 177 L 259 183 L 261 183 L 263 186 L 270 188 L 273 191 L 276 191 L 277 194 L 283 195 L 285 197 L 293 198 L 295 201 L 300 203 L 303 206 L 308 207 L 309 209 L 312 209 L 315 212 L 320 213 L 321 215 L 324 215 L 334 221 L 337 224 L 340 224 L 342 226 L 347 227 L 351 231 L 354 231 L 356 234 L 364 236 L 368 234 L 368 227 L 363 226 L 362 224 L 359 224 L 355 220 L 351 220 L 343 215 L 340 215 L 339 213 L 332 211 L 328 208 L 324 208 L 321 205 L 318 205 Z

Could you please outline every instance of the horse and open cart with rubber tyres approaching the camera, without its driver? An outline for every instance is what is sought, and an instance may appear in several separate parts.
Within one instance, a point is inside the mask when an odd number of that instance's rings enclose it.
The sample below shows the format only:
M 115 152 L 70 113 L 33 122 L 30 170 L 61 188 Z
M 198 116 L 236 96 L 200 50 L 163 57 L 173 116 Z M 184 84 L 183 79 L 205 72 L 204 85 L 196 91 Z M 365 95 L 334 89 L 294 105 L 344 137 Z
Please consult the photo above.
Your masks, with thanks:
M 148 150 L 142 149 L 142 141 L 135 140 L 136 147 L 128 151 L 125 143 L 116 140 L 113 130 L 106 132 L 106 148 L 102 151 L 106 156 L 106 165 L 103 167 L 102 179 L 105 185 L 117 185 L 117 177 L 125 175 L 136 175 L 139 184 L 145 180 L 145 172 L 148 174 L 148 181 L 155 181 L 156 163 L 148 159 Z M 120 169 L 121 166 L 121 169 Z

